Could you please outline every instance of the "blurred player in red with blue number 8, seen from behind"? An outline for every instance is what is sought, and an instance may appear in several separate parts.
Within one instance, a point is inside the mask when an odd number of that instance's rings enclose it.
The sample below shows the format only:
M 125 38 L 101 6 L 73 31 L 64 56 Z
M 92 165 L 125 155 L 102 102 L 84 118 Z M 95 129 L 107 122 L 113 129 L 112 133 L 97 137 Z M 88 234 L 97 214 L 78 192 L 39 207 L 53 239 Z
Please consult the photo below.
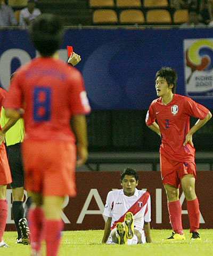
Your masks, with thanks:
M 4 107 L 10 118 L 23 113 L 25 181 L 34 202 L 28 215 L 31 255 L 41 255 L 44 235 L 46 255 L 55 256 L 64 196 L 76 195 L 76 139 L 77 165 L 88 156 L 85 114 L 91 108 L 79 71 L 58 59 L 63 37 L 59 20 L 52 14 L 40 15 L 30 27 L 30 37 L 41 57 L 17 71 Z

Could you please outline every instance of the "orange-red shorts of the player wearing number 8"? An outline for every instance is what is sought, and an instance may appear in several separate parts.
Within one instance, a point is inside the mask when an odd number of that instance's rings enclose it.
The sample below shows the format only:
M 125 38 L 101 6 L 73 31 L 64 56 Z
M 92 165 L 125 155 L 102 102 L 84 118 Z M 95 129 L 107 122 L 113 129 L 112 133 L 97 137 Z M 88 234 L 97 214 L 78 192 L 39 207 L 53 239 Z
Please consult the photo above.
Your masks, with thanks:
M 67 141 L 22 143 L 25 185 L 44 196 L 76 196 L 76 145 Z

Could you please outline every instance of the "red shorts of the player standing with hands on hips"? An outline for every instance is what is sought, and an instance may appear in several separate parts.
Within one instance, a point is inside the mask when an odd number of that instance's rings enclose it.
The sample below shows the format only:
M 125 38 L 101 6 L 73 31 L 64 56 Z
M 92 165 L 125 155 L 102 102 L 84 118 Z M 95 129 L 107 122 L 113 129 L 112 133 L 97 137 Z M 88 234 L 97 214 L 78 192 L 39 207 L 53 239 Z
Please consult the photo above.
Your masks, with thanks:
M 193 174 L 196 178 L 196 165 L 194 162 L 178 162 L 160 155 L 160 171 L 163 185 L 173 185 L 179 188 L 184 175 Z

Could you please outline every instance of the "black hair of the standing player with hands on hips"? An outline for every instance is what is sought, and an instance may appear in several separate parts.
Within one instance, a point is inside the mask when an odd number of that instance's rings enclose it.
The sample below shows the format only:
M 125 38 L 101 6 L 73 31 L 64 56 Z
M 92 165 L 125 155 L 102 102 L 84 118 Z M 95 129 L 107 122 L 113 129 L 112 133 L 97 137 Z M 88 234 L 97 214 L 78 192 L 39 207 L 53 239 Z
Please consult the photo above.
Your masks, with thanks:
M 176 92 L 176 86 L 177 86 L 177 72 L 174 68 L 170 67 L 162 67 L 155 75 L 155 80 L 158 77 L 162 77 L 166 79 L 168 85 L 173 84 L 173 88 L 171 88 L 171 91 L 173 93 Z

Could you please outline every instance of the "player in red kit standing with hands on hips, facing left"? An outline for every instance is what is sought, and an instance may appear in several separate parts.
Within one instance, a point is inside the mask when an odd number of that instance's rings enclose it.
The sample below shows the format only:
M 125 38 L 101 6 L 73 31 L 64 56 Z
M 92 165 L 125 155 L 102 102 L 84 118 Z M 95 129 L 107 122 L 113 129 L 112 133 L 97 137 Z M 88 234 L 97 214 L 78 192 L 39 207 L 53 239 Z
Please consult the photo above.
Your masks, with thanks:
M 187 200 L 191 239 L 200 240 L 200 210 L 195 194 L 195 148 L 192 135 L 211 118 L 210 111 L 194 100 L 175 94 L 177 73 L 161 68 L 155 75 L 158 99 L 152 101 L 146 125 L 161 137 L 160 169 L 168 199 L 168 210 L 174 232 L 167 239 L 184 240 L 179 186 Z M 199 120 L 190 129 L 190 116 Z M 157 122 L 156 122 L 157 121 Z

